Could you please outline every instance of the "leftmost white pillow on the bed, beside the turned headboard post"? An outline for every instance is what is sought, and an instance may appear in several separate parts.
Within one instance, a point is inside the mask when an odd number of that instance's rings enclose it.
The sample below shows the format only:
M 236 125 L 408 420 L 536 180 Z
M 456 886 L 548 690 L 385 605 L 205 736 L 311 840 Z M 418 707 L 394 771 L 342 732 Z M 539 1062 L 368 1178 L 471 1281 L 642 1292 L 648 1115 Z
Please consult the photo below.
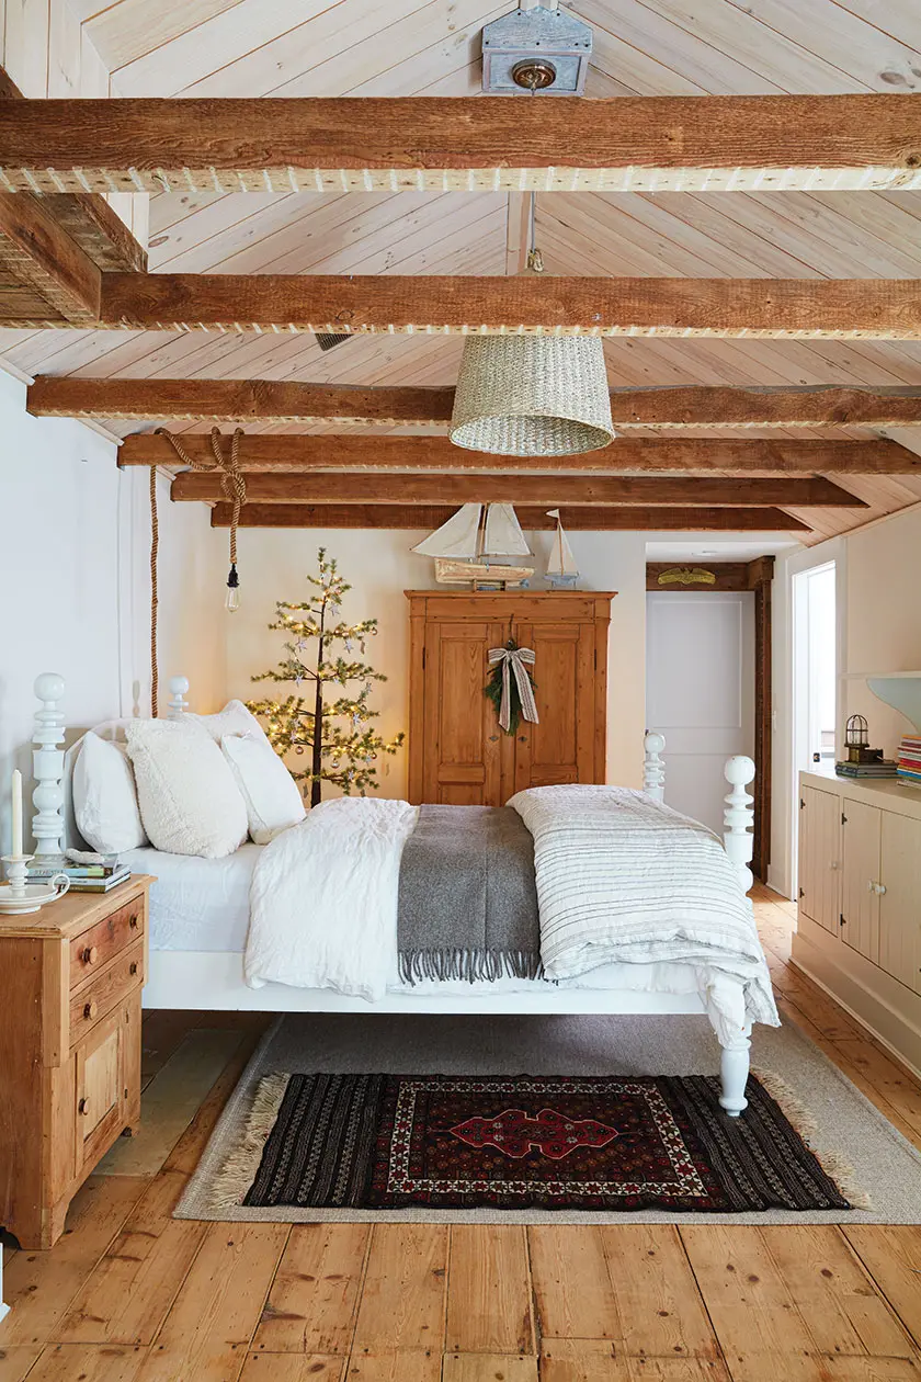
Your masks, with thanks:
M 148 843 L 124 744 L 86 734 L 73 767 L 72 792 L 77 829 L 91 849 L 122 854 Z

